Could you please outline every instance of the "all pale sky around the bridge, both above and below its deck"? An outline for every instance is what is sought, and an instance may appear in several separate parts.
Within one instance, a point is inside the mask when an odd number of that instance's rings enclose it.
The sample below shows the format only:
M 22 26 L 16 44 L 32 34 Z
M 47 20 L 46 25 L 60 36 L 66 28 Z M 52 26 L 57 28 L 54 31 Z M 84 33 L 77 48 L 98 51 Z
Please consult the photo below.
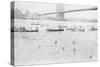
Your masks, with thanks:
M 49 13 L 56 12 L 57 4 L 55 3 L 41 3 L 41 2 L 31 2 L 31 1 L 15 1 L 15 8 L 21 10 L 23 13 L 30 11 L 32 13 Z M 87 6 L 87 5 L 77 5 L 77 4 L 64 4 L 64 11 L 73 10 L 73 9 L 84 9 L 91 8 L 96 6 Z M 97 19 L 97 11 L 81 11 L 66 13 L 65 17 L 74 18 L 74 19 Z M 55 15 L 51 15 L 55 16 Z

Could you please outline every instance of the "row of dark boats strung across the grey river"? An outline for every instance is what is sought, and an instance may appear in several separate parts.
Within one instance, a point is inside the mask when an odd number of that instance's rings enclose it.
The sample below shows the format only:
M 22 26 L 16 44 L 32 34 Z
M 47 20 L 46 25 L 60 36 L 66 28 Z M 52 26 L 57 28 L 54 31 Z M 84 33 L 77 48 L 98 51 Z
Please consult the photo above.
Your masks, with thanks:
M 48 32 L 61 32 L 61 31 L 64 31 L 64 30 L 67 30 L 67 31 L 73 31 L 73 32 L 76 32 L 76 31 L 79 31 L 79 32 L 84 32 L 86 31 L 86 27 L 84 26 L 72 26 L 72 27 L 67 27 L 67 26 L 57 26 L 57 28 L 46 28 L 46 31 Z M 89 27 L 88 31 L 96 31 L 97 28 L 95 26 L 91 26 Z M 25 27 L 20 27 L 20 28 L 17 28 L 17 27 L 11 27 L 11 32 L 39 32 L 39 27 L 35 27 L 35 29 L 26 29 Z

